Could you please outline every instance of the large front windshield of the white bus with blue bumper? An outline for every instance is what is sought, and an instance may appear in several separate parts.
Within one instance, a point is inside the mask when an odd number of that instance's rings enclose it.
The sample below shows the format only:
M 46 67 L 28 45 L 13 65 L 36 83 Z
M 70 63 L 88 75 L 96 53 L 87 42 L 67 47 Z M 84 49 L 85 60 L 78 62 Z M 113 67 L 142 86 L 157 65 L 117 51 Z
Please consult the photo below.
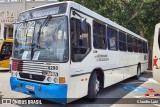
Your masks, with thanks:
M 67 17 L 24 21 L 15 25 L 13 58 L 64 62 L 68 60 Z

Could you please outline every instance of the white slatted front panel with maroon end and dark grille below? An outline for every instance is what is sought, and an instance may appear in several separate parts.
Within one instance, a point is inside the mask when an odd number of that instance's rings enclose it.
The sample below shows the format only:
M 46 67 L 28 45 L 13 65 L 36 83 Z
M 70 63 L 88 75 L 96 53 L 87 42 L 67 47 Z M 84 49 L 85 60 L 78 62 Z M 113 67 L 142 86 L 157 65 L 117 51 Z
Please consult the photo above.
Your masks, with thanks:
M 20 78 L 44 81 L 45 76 L 42 75 L 42 71 L 47 70 L 48 67 L 45 62 L 13 60 L 13 69 L 19 72 Z

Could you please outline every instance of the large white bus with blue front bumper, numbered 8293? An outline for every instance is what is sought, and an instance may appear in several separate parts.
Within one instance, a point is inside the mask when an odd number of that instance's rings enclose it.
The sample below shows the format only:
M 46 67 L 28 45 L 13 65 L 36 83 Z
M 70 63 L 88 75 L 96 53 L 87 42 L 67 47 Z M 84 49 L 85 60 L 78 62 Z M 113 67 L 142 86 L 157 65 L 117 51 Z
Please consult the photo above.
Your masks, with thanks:
M 148 67 L 148 42 L 72 1 L 19 14 L 14 28 L 13 91 L 57 103 L 98 92 Z

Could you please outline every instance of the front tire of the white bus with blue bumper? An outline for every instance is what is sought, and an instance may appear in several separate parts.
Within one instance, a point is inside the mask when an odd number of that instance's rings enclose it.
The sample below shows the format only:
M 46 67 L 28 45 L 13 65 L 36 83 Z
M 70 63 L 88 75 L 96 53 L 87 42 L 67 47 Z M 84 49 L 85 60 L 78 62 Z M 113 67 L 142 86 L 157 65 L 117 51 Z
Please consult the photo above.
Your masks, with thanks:
M 91 77 L 89 79 L 89 85 L 88 85 L 88 99 L 90 101 L 95 101 L 97 98 L 97 93 L 99 91 L 99 81 L 97 78 L 97 73 L 93 72 L 91 74 Z

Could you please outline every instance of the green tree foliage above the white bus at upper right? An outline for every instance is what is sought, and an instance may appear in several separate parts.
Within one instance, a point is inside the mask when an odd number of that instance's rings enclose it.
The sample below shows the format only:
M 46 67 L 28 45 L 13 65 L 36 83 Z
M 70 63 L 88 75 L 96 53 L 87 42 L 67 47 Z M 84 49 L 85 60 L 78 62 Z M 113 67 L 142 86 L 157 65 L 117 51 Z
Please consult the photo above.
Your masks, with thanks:
M 160 0 L 74 1 L 145 37 L 152 46 L 154 28 L 160 22 Z

